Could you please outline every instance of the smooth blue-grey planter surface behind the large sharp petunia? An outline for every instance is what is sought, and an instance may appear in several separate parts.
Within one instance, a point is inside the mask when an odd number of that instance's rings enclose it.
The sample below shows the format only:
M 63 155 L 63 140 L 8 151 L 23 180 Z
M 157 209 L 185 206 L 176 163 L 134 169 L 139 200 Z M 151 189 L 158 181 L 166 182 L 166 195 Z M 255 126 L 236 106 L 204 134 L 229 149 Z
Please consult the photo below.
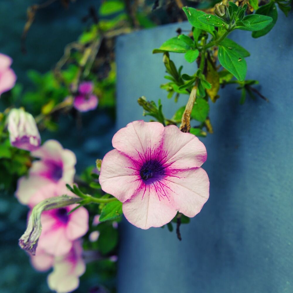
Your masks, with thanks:
M 273 31 L 257 40 L 249 32 L 234 33 L 251 52 L 247 79 L 260 81 L 270 103 L 259 98 L 241 106 L 234 86 L 220 91 L 211 105 L 214 134 L 202 139 L 210 198 L 181 227 L 181 242 L 166 228 L 143 231 L 123 222 L 119 293 L 293 292 L 292 21 L 292 14 L 279 13 Z M 177 105 L 167 100 L 159 88 L 166 82 L 162 55 L 151 54 L 178 26 L 117 40 L 117 127 L 142 118 L 139 96 L 161 98 L 169 117 L 186 103 L 187 97 Z M 171 59 L 186 64 L 179 54 Z M 194 65 L 184 66 L 183 72 L 194 71 Z

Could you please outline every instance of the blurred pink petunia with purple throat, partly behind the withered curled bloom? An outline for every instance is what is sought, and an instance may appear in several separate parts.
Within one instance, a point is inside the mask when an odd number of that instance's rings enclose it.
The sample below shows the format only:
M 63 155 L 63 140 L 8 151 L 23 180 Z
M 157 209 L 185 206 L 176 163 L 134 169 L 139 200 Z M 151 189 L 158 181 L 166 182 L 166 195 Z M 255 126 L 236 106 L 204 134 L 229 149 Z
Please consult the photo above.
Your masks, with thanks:
M 31 197 L 29 207 L 33 208 L 47 198 L 65 194 L 76 197 L 66 188 L 63 181 L 47 184 Z M 64 255 L 72 248 L 73 241 L 86 234 L 88 211 L 84 207 L 80 207 L 68 214 L 74 207 L 76 205 L 42 212 L 42 233 L 37 247 L 39 251 L 55 256 Z

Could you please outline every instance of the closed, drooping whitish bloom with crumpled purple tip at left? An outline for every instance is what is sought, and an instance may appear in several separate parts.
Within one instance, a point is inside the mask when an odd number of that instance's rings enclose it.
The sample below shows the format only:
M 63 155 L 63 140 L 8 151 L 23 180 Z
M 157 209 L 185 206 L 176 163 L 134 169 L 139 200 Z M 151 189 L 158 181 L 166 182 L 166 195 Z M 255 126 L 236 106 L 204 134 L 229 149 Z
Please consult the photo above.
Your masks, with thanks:
M 40 146 L 41 137 L 35 119 L 21 108 L 10 110 L 8 132 L 13 147 L 34 151 Z

